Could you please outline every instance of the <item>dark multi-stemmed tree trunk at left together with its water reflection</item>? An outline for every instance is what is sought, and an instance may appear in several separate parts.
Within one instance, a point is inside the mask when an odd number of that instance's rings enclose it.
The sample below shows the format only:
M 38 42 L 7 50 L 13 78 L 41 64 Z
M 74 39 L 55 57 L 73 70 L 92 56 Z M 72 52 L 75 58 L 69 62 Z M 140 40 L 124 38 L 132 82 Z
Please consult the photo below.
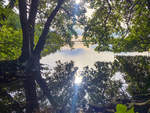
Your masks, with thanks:
M 23 46 L 22 46 L 22 54 L 20 57 L 21 63 L 23 63 L 25 69 L 26 80 L 24 81 L 24 89 L 26 95 L 26 112 L 33 113 L 38 108 L 38 101 L 36 95 L 36 84 L 35 78 L 43 92 L 46 94 L 51 103 L 55 103 L 53 98 L 49 95 L 48 87 L 46 86 L 45 81 L 42 79 L 40 75 L 40 53 L 44 47 L 46 36 L 49 32 L 49 27 L 52 23 L 52 20 L 56 16 L 59 11 L 61 5 L 64 0 L 58 0 L 58 4 L 55 9 L 52 11 L 50 16 L 48 17 L 42 34 L 39 38 L 39 41 L 34 48 L 34 27 L 35 27 L 35 18 L 37 14 L 37 8 L 39 0 L 32 0 L 31 6 L 29 10 L 29 17 L 27 17 L 27 0 L 19 0 L 19 15 L 20 15 L 20 23 L 23 32 Z M 36 65 L 36 63 L 38 63 Z M 37 67 L 37 68 L 36 68 Z M 34 73 L 34 72 L 35 73 Z M 54 104 L 55 105 L 55 104 Z

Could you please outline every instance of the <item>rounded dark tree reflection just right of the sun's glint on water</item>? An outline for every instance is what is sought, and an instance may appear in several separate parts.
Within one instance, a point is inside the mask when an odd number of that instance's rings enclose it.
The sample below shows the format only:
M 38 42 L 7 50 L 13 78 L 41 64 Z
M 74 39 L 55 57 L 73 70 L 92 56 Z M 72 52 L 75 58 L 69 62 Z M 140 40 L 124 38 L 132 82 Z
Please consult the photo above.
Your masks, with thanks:
M 120 81 L 112 81 L 112 67 L 110 63 L 96 62 L 96 69 L 85 68 L 84 86 L 89 101 L 95 104 L 107 104 L 114 97 L 120 97 Z

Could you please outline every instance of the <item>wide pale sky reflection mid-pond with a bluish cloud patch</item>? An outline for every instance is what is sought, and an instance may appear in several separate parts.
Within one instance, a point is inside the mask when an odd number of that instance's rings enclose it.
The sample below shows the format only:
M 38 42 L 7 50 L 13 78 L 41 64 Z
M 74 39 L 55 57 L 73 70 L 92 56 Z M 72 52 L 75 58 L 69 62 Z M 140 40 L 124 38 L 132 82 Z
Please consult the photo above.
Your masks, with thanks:
M 85 66 L 93 66 L 96 61 L 113 62 L 114 53 L 112 52 L 96 52 L 93 47 L 86 48 L 81 43 L 74 45 L 74 49 L 69 47 L 62 48 L 56 53 L 47 55 L 41 59 L 41 63 L 48 64 L 50 67 L 55 66 L 55 62 L 61 60 L 62 62 L 74 61 L 75 66 L 80 69 Z

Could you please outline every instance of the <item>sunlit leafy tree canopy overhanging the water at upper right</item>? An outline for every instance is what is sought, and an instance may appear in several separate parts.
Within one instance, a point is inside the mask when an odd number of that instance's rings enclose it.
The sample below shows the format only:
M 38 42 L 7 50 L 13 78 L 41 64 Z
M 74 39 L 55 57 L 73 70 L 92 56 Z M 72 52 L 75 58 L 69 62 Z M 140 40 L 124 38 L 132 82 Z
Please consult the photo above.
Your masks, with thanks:
M 85 26 L 86 45 L 97 51 L 148 51 L 149 0 L 89 1 L 95 12 Z

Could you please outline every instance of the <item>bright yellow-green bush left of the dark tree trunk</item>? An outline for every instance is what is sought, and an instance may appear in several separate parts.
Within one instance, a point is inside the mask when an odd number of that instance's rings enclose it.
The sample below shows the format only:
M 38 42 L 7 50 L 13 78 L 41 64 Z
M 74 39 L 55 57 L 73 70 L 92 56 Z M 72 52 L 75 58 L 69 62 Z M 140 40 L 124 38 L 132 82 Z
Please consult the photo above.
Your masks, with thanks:
M 12 21 L 13 22 L 13 21 Z M 16 59 L 21 54 L 22 32 L 3 25 L 0 29 L 0 60 Z

